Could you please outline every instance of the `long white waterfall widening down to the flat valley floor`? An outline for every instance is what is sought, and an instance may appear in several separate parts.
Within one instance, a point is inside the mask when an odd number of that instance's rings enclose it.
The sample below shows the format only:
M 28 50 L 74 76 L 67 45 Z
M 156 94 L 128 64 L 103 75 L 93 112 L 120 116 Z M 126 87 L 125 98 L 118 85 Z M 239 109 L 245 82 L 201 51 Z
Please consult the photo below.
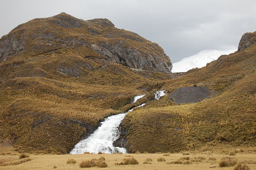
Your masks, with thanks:
M 134 97 L 134 102 L 138 99 L 144 97 L 144 95 Z M 144 106 L 143 103 L 140 106 Z M 126 113 L 121 113 L 105 118 L 105 121 L 102 122 L 101 126 L 87 139 L 79 141 L 71 150 L 70 154 L 83 154 L 84 152 L 90 152 L 97 154 L 102 152 L 105 154 L 111 154 L 113 152 L 126 153 L 125 148 L 114 147 L 113 142 L 118 139 L 120 132 L 118 131 L 118 126 L 121 121 L 125 118 L 125 115 L 131 112 L 133 109 L 129 110 Z

